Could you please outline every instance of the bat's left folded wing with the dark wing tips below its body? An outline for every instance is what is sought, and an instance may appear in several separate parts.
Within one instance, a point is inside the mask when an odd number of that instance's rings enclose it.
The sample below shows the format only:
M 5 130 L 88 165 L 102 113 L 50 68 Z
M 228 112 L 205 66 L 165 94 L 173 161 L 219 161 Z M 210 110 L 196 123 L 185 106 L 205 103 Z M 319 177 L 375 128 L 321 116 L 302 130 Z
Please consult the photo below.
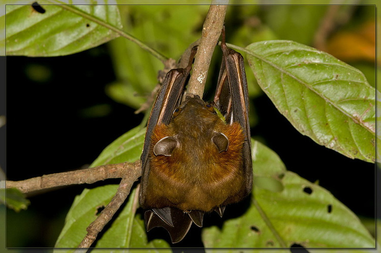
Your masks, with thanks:
M 157 124 L 168 124 L 173 115 L 173 111 L 180 105 L 185 82 L 192 69 L 192 61 L 196 51 L 197 47 L 194 47 L 187 67 L 171 69 L 168 72 L 152 106 L 144 139 L 143 152 L 140 157 L 142 178 L 139 191 L 139 203 L 143 208 L 147 208 L 145 196 L 150 171 L 148 152 L 153 128 Z M 164 227 L 169 232 L 172 242 L 179 242 L 188 232 L 192 222 L 198 226 L 202 226 L 204 213 L 199 211 L 192 211 L 192 214 L 190 213 L 191 212 L 184 213 L 183 211 L 172 207 L 152 208 L 147 210 L 144 213 L 147 232 L 154 227 Z

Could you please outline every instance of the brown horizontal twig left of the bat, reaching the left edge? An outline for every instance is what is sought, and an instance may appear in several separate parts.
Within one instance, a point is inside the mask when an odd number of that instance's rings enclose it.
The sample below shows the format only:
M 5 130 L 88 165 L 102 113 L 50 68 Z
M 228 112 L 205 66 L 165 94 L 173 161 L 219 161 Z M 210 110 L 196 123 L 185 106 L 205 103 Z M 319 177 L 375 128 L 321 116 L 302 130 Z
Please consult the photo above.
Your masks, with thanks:
M 134 172 L 134 173 L 133 173 Z M 29 193 L 59 186 L 93 184 L 108 178 L 126 178 L 133 173 L 141 173 L 140 161 L 134 163 L 107 164 L 89 169 L 48 174 L 21 181 L 5 182 L 6 188 L 17 188 L 22 193 Z M 132 182 L 138 178 L 130 178 Z

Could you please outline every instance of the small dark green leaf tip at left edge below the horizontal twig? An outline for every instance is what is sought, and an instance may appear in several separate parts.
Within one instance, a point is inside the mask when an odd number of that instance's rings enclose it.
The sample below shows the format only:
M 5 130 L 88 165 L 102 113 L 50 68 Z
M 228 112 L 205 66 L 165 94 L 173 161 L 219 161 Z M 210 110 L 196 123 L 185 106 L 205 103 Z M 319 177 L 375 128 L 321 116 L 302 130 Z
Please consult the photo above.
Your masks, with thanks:
M 16 188 L 0 189 L 0 202 L 19 212 L 26 210 L 30 201 Z

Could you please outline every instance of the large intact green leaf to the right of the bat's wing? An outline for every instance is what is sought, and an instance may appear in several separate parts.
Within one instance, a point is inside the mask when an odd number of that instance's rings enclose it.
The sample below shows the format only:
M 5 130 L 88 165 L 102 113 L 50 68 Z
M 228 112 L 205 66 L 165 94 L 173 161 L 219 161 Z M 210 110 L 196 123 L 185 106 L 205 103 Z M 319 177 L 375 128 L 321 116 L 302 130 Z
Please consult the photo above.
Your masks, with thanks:
M 245 52 L 263 91 L 299 132 L 375 161 L 375 89 L 361 71 L 292 41 L 253 43 Z

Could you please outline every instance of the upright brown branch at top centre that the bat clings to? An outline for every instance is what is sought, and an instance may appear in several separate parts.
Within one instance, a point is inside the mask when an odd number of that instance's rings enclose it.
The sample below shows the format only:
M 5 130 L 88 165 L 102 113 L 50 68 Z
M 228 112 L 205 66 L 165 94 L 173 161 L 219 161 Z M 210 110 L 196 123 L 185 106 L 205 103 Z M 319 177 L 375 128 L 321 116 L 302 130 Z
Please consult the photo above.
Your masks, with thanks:
M 225 4 L 225 5 L 215 5 Z M 213 51 L 217 45 L 219 35 L 224 25 L 224 19 L 229 1 L 212 1 L 206 16 L 203 28 L 202 37 L 199 48 L 195 56 L 195 64 L 193 66 L 192 76 L 190 76 L 187 94 L 199 95 L 202 97 L 208 68 Z

